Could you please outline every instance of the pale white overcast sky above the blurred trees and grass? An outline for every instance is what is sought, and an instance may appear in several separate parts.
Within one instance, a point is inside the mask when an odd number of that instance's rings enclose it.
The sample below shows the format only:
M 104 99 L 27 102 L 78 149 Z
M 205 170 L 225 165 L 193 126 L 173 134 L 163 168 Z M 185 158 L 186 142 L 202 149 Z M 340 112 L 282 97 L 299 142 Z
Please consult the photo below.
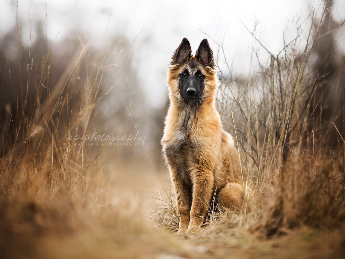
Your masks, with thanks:
M 0 8 L 0 33 L 15 24 L 15 0 L 2 0 Z M 142 45 L 134 56 L 141 87 L 152 103 L 159 107 L 167 98 L 165 77 L 169 59 L 183 37 L 187 37 L 195 51 L 206 32 L 217 42 L 223 41 L 227 60 L 233 62 L 235 74 L 248 73 L 250 69 L 250 47 L 253 37 L 242 22 L 253 29 L 258 21 L 256 35 L 271 52 L 283 47 L 283 31 L 287 40 L 295 37 L 291 22 L 306 15 L 314 6 L 321 9 L 321 0 L 216 0 L 216 1 L 111 1 L 111 0 L 19 0 L 19 17 L 23 31 L 30 31 L 34 17 L 47 14 L 48 35 L 62 40 L 68 33 L 84 32 L 91 44 L 99 46 L 105 32 L 111 7 L 108 38 L 121 33 L 134 40 L 134 49 Z M 308 7 L 309 6 L 309 7 Z M 345 1 L 336 0 L 335 18 L 345 18 Z M 45 20 L 45 19 L 44 19 Z M 60 32 L 59 32 L 60 31 Z M 225 36 L 224 36 L 225 35 Z M 23 34 L 29 38 L 29 34 Z M 209 39 L 216 53 L 218 47 Z M 264 61 L 267 56 L 262 53 Z M 219 67 L 224 67 L 220 58 Z

